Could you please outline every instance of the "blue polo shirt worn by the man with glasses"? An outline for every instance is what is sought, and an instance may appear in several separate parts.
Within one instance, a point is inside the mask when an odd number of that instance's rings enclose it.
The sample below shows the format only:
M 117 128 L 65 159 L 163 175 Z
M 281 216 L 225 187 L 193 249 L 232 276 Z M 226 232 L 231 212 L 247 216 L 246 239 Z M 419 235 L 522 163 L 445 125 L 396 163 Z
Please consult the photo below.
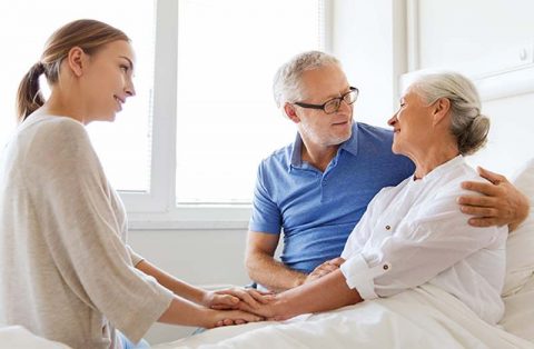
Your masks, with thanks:
M 392 142 L 392 131 L 355 122 L 322 172 L 301 160 L 297 134 L 259 164 L 249 229 L 283 230 L 281 261 L 301 272 L 339 257 L 373 197 L 414 173 L 414 163 L 394 154 Z

